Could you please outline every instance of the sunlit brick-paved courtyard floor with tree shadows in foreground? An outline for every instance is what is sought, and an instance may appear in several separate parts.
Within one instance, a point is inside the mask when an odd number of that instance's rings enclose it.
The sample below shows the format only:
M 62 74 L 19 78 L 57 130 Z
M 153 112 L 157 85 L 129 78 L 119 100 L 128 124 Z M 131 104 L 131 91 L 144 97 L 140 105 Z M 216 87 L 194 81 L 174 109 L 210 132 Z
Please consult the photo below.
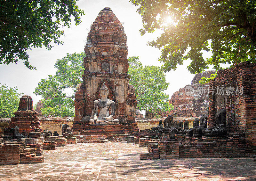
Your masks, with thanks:
M 256 158 L 140 160 L 146 149 L 126 142 L 68 144 L 44 151 L 41 164 L 0 166 L 0 180 L 256 180 Z

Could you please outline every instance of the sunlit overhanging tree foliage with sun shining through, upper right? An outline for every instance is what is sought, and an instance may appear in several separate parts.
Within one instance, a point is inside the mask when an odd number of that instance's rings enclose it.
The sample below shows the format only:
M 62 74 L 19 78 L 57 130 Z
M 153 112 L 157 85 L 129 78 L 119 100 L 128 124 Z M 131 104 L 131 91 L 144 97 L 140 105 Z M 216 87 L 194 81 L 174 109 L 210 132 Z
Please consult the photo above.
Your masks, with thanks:
M 255 0 L 130 0 L 139 5 L 141 35 L 161 29 L 163 33 L 148 45 L 161 49 L 162 69 L 170 71 L 191 59 L 188 70 L 200 73 L 222 63 L 256 63 Z M 167 24 L 166 19 L 172 23 Z M 205 59 L 202 51 L 212 52 Z

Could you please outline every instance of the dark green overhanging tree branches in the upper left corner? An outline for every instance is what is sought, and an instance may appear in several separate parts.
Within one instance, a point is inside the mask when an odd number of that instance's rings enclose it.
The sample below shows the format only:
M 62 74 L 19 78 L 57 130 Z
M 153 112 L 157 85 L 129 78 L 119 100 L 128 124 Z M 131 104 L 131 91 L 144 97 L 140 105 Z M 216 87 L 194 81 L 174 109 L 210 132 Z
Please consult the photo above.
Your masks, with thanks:
M 0 64 L 17 63 L 35 69 L 28 62 L 27 50 L 31 47 L 46 47 L 51 50 L 52 41 L 64 33 L 60 26 L 70 27 L 71 16 L 75 24 L 81 22 L 78 0 L 5 0 L 0 1 Z

